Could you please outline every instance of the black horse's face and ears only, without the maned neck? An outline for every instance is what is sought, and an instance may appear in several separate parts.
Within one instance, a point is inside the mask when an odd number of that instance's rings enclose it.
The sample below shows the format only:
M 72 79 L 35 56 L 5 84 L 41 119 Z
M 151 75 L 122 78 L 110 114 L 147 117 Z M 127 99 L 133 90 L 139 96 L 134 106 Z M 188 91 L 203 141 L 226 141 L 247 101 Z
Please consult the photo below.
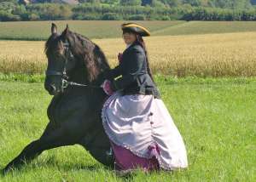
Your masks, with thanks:
M 52 24 L 51 36 L 45 44 L 48 66 L 45 71 L 44 88 L 49 94 L 55 95 L 63 92 L 63 79 L 67 79 L 77 62 L 67 38 L 69 33 L 67 26 L 61 34 L 58 34 L 57 26 Z

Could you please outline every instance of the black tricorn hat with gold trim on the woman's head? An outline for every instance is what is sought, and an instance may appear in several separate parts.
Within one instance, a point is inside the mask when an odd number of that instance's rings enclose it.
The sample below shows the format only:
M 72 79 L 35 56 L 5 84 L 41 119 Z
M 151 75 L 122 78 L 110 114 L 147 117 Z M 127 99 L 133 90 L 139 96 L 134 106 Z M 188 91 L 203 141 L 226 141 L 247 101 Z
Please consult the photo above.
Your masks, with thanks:
M 150 32 L 143 26 L 139 26 L 136 23 L 124 23 L 121 25 L 123 32 L 133 31 L 142 37 L 150 36 Z

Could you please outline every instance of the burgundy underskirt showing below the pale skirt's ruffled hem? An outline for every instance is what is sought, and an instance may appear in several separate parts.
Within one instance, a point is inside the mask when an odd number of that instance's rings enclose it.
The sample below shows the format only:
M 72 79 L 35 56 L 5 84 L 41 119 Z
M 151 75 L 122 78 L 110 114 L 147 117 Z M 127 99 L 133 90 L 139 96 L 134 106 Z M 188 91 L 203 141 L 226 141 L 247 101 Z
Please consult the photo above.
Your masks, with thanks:
M 115 145 L 111 140 L 110 143 L 113 148 L 113 153 L 115 156 L 115 167 L 117 170 L 143 168 L 144 171 L 152 171 L 160 169 L 159 162 L 155 157 L 155 155 L 158 155 L 159 153 L 157 145 L 148 146 L 148 152 L 152 154 L 152 157 L 147 159 L 134 155 L 131 151 L 125 149 L 122 146 Z

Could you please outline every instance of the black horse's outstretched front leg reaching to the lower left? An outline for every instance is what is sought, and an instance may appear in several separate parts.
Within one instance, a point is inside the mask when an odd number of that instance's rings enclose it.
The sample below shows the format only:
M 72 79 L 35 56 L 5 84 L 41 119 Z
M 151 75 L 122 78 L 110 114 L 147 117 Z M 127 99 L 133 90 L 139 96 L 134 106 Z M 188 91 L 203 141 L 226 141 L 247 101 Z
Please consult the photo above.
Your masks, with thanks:
M 14 160 L 3 168 L 3 172 L 7 172 L 10 168 L 16 168 L 25 162 L 31 161 L 45 150 L 73 144 L 72 141 L 66 139 L 63 128 L 57 128 L 52 132 L 44 132 L 40 139 L 34 140 L 29 145 L 26 145 L 23 151 L 20 152 L 20 155 L 16 156 Z

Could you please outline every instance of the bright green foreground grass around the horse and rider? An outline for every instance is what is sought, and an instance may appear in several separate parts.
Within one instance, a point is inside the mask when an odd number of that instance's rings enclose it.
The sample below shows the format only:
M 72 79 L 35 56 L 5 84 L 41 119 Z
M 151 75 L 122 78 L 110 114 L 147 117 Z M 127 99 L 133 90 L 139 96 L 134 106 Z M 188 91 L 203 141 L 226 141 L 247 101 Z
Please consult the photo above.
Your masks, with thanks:
M 15 79 L 14 77 L 23 77 Z M 49 96 L 43 76 L 0 77 L 0 168 L 42 134 Z M 256 78 L 175 78 L 156 81 L 183 135 L 189 168 L 137 172 L 131 181 L 255 181 Z M 21 82 L 22 81 L 22 82 Z M 24 82 L 26 81 L 26 82 Z M 79 145 L 44 151 L 0 181 L 124 181 Z M 127 180 L 128 181 L 128 180 Z

